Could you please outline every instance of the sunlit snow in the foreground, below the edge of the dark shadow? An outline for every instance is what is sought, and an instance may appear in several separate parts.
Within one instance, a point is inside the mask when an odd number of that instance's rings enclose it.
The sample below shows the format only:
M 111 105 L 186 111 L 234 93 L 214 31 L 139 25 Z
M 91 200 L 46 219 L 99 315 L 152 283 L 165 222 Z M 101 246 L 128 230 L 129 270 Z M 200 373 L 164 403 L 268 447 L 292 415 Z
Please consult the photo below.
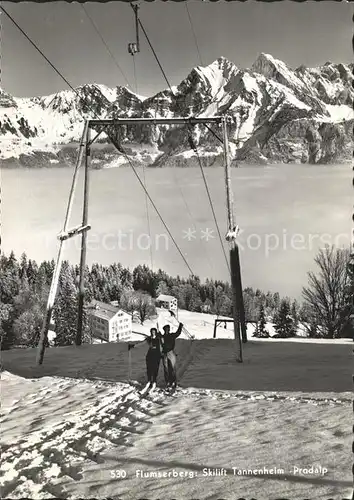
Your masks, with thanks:
M 4 497 L 351 497 L 351 398 L 342 394 L 141 398 L 128 384 L 8 372 L 2 386 Z

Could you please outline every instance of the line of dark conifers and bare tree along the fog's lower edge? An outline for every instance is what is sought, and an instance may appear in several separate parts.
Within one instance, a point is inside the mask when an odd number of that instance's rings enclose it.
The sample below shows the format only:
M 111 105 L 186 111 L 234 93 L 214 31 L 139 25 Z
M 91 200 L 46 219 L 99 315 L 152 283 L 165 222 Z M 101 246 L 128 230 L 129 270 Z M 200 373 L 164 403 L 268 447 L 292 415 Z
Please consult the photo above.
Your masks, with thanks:
M 266 324 L 274 323 L 278 337 L 295 336 L 301 323 L 310 337 L 336 338 L 353 334 L 354 266 L 349 251 L 326 247 L 315 258 L 317 272 L 308 273 L 300 304 L 279 293 L 245 288 L 246 321 L 255 322 L 255 336 L 268 337 Z M 1 349 L 37 345 L 55 262 L 38 264 L 24 253 L 0 256 Z M 53 310 L 55 345 L 74 343 L 77 328 L 79 268 L 64 261 Z M 116 301 L 140 322 L 153 316 L 155 299 L 173 295 L 180 309 L 232 316 L 232 290 L 228 282 L 197 276 L 172 277 L 159 269 L 138 265 L 132 271 L 119 263 L 93 264 L 85 269 L 85 303 L 92 299 Z M 84 313 L 84 339 L 90 340 Z

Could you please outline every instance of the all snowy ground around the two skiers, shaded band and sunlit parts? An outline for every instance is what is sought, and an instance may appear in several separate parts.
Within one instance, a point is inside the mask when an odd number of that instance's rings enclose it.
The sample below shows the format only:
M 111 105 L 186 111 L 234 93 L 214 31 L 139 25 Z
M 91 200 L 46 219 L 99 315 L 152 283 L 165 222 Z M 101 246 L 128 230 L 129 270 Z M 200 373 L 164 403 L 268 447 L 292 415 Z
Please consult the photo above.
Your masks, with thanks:
M 262 492 L 316 500 L 350 494 L 345 341 L 251 340 L 239 364 L 234 342 L 225 338 L 231 329 L 218 328 L 212 339 L 214 316 L 179 311 L 179 319 L 203 340 L 184 334 L 177 340 L 182 388 L 173 397 L 157 390 L 142 398 L 125 382 L 124 343 L 49 348 L 41 367 L 34 349 L 2 353 L 3 496 L 133 500 L 144 491 L 146 498 L 211 499 L 247 491 L 254 498 Z M 164 310 L 157 321 L 176 326 Z M 156 319 L 134 329 L 147 333 L 152 325 Z M 132 378 L 144 381 L 145 343 L 130 352 Z M 311 465 L 328 471 L 294 471 Z M 246 471 L 234 475 L 233 467 Z M 282 470 L 247 473 L 273 467 Z M 204 468 L 226 475 L 206 477 Z

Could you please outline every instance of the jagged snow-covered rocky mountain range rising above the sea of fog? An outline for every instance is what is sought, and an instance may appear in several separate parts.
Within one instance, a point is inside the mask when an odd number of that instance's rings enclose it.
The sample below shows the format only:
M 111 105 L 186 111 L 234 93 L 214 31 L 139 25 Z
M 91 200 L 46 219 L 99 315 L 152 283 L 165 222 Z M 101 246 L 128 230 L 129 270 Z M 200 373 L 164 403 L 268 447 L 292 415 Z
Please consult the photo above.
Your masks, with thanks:
M 36 98 L 16 98 L 1 90 L 2 163 L 41 166 L 73 157 L 84 118 L 221 114 L 230 119 L 230 148 L 236 161 L 350 161 L 352 80 L 353 65 L 328 62 L 318 68 L 293 70 L 271 55 L 261 54 L 250 69 L 219 58 L 207 67 L 194 68 L 172 91 L 147 98 L 127 88 L 97 84 Z M 213 128 L 221 133 L 217 126 Z M 218 164 L 222 147 L 215 136 L 197 126 L 193 137 L 204 161 Z M 119 139 L 138 164 L 187 166 L 196 161 L 186 127 L 127 126 Z M 119 153 L 102 146 L 95 161 L 100 167 L 118 160 Z

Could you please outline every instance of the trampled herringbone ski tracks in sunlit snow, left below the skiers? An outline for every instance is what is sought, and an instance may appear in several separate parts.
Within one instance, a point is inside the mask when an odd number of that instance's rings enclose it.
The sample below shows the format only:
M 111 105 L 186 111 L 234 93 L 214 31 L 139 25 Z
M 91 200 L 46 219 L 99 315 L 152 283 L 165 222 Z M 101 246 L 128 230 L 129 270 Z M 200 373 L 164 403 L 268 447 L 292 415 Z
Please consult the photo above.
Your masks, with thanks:
M 19 440 L 2 443 L 2 496 L 11 498 L 65 497 L 60 483 L 67 479 L 79 481 L 82 470 L 92 463 L 102 463 L 100 453 L 116 446 L 133 446 L 136 434 L 144 432 L 161 406 L 160 391 L 141 397 L 136 388 L 126 384 L 90 383 L 95 400 L 82 401 L 81 408 L 70 411 L 74 403 L 71 392 L 77 393 L 87 382 L 55 379 L 56 385 L 41 389 L 13 401 L 1 423 L 9 427 L 14 412 L 31 424 Z M 54 383 L 55 383 L 54 382 Z M 74 389 L 74 391 L 73 391 Z M 83 388 L 83 391 L 85 388 Z M 54 392 L 54 394 L 53 394 Z M 57 393 L 57 397 L 56 394 Z M 50 425 L 46 397 L 62 400 L 64 412 L 60 421 Z M 86 403 L 86 404 L 85 404 Z M 43 411 L 44 410 L 44 411 Z M 33 414 L 36 418 L 33 419 Z M 12 422 L 13 423 L 13 422 Z M 16 425 L 21 426 L 21 418 Z M 39 430 L 32 430 L 33 428 Z M 16 442 L 17 441 L 17 442 Z

